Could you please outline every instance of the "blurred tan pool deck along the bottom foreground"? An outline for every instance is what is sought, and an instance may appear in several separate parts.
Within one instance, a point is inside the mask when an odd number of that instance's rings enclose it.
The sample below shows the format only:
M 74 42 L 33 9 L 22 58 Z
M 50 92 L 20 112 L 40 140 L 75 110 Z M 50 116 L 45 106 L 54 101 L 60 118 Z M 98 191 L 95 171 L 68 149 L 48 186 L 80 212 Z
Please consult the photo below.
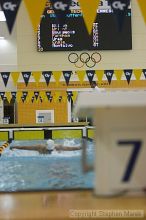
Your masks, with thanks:
M 137 219 L 146 219 L 146 197 L 97 198 L 91 190 L 0 193 L 0 220 L 77 219 L 69 213 L 87 209 L 144 210 L 145 217 Z

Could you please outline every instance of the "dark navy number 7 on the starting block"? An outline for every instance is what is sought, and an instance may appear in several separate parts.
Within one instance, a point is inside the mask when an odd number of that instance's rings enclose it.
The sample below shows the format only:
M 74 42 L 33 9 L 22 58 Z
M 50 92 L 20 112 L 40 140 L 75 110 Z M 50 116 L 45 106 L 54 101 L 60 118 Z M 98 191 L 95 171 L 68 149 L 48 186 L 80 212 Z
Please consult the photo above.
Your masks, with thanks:
M 127 164 L 127 168 L 126 171 L 124 173 L 124 176 L 122 178 L 123 182 L 127 182 L 130 180 L 130 177 L 132 175 L 133 169 L 134 169 L 134 165 L 136 163 L 136 160 L 138 158 L 141 146 L 142 146 L 142 141 L 118 141 L 119 145 L 123 145 L 123 146 L 127 146 L 127 145 L 133 145 L 133 151 L 132 154 L 129 158 L 129 162 Z

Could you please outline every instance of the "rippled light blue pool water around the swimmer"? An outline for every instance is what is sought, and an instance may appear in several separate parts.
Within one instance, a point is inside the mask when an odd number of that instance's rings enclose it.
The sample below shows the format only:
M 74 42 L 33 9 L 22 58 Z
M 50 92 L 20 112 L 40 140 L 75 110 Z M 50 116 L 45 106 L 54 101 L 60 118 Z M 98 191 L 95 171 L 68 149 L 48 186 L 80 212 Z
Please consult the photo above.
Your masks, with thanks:
M 80 139 L 56 140 L 67 146 Z M 42 141 L 16 141 L 12 145 L 35 145 Z M 1 143 L 2 144 L 2 143 Z M 88 142 L 88 161 L 93 162 L 93 143 Z M 93 172 L 84 174 L 81 150 L 40 155 L 35 151 L 7 148 L 0 158 L 0 191 L 86 189 L 93 187 Z

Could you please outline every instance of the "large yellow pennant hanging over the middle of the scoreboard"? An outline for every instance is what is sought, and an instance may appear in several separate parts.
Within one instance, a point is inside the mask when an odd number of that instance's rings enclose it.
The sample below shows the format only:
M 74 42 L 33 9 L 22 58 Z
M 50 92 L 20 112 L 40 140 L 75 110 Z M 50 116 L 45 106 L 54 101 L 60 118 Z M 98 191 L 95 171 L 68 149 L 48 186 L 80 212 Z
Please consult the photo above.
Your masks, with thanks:
M 81 11 L 83 13 L 83 18 L 88 30 L 88 33 L 91 34 L 93 22 L 97 16 L 97 9 L 100 0 L 78 0 Z

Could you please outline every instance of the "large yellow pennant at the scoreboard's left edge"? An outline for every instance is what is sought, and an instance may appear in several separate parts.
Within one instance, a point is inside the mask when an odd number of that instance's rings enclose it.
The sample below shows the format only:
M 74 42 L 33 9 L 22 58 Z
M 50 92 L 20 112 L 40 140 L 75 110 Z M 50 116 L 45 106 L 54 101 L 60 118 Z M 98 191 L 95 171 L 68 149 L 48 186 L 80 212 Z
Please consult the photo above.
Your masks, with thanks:
M 34 31 L 37 32 L 47 0 L 24 0 Z

